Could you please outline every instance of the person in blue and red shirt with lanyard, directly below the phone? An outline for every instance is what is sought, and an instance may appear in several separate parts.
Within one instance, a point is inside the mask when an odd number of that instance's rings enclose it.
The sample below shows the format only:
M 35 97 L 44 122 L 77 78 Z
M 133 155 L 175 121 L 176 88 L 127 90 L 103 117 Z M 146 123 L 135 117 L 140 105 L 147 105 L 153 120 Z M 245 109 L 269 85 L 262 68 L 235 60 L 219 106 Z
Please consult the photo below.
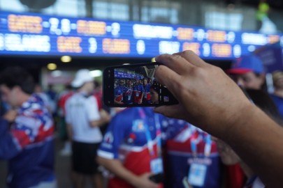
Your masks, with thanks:
M 162 187 L 150 180 L 163 173 L 162 118 L 150 107 L 127 108 L 113 117 L 98 150 L 99 163 L 113 173 L 108 187 Z

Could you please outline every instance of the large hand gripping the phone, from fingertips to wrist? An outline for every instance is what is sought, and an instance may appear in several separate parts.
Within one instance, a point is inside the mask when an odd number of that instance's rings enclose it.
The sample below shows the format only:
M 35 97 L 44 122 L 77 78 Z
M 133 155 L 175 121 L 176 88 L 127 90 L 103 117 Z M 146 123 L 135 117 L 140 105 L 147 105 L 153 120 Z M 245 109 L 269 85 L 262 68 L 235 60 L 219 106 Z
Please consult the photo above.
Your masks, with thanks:
M 157 68 L 155 77 L 180 103 L 157 107 L 157 113 L 187 120 L 210 134 L 223 136 L 245 113 L 243 109 L 252 105 L 220 68 L 205 63 L 194 52 L 164 54 L 155 59 L 164 64 Z

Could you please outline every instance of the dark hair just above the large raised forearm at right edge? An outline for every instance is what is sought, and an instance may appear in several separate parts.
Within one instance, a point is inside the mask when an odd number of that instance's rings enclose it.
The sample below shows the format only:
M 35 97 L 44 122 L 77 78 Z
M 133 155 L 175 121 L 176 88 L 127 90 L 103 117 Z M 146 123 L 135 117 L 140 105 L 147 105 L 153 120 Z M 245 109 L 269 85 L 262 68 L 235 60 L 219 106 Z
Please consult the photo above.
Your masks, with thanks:
M 283 126 L 283 119 L 278 111 L 272 98 L 262 90 L 245 89 L 247 97 L 249 97 L 257 107 L 264 111 L 270 118 L 276 121 L 279 125 Z

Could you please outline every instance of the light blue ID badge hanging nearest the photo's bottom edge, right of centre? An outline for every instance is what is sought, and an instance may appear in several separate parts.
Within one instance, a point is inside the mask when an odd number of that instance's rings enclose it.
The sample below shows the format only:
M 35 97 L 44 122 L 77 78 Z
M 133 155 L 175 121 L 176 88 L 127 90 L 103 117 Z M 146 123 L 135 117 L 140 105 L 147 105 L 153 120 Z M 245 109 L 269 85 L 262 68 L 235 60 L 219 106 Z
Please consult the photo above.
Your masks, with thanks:
M 191 164 L 188 181 L 193 186 L 203 187 L 207 166 L 204 164 Z

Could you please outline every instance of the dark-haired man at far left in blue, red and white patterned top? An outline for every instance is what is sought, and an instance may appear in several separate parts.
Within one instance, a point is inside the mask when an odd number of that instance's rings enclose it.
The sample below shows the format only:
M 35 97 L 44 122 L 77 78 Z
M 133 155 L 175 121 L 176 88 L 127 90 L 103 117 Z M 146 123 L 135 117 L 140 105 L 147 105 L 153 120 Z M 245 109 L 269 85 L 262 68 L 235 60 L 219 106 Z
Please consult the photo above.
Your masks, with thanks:
M 8 160 L 7 185 L 57 187 L 54 123 L 26 70 L 10 67 L 0 74 L 3 101 L 11 110 L 0 118 L 0 159 Z

